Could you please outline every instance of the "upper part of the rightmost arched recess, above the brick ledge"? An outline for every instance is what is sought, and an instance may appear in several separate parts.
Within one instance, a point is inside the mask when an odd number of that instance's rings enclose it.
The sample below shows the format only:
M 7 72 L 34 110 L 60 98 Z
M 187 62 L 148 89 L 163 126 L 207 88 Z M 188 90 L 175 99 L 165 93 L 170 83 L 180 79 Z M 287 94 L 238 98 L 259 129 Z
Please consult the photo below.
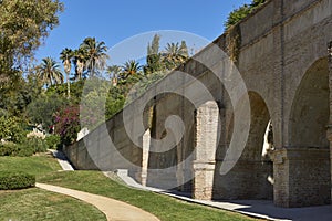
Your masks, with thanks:
M 293 99 L 289 120 L 289 145 L 295 148 L 328 148 L 328 59 L 314 62 L 305 72 Z

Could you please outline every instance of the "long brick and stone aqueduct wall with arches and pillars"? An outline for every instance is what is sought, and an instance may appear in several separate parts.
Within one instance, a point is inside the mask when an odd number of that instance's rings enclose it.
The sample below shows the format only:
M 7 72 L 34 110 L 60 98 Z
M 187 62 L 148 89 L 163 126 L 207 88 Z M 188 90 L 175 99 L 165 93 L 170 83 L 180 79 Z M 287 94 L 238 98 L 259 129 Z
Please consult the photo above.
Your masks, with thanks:
M 127 168 L 144 185 L 177 187 L 198 199 L 267 199 L 279 207 L 329 204 L 331 42 L 332 0 L 270 0 L 148 90 L 144 95 L 153 97 L 148 103 L 144 96 L 137 98 L 126 106 L 126 116 L 118 113 L 65 152 L 79 169 Z M 227 173 L 220 167 L 236 141 L 232 137 L 239 130 L 234 114 L 243 103 L 231 103 L 226 83 L 200 62 L 216 57 L 215 45 L 235 61 L 250 103 L 245 149 Z M 194 80 L 176 74 L 179 71 Z M 200 96 L 195 82 L 211 96 Z M 166 86 L 178 93 L 156 93 L 167 92 Z M 191 98 L 180 96 L 184 94 Z M 142 105 L 144 115 L 138 117 L 144 128 L 137 128 L 136 113 Z M 173 115 L 185 127 L 178 140 L 176 131 L 165 127 Z M 125 125 L 128 116 L 129 125 Z M 262 156 L 270 120 L 274 148 Z M 153 151 L 156 140 L 163 139 L 172 148 Z

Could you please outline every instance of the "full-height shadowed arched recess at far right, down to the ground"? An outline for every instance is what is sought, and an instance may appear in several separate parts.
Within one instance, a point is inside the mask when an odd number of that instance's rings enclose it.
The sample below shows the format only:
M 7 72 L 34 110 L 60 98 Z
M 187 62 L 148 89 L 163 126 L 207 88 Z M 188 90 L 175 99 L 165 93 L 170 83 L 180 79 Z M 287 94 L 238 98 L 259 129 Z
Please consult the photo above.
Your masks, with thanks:
M 292 103 L 284 164 L 289 170 L 289 207 L 330 203 L 329 117 L 329 65 L 324 57 L 308 69 Z

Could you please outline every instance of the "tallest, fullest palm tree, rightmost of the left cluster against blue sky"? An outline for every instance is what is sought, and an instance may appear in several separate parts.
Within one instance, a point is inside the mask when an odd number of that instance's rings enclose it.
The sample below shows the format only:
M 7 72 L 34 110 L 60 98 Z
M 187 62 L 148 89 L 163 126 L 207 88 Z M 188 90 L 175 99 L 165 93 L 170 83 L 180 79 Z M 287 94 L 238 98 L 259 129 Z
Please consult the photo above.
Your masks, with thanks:
M 95 38 L 86 38 L 80 46 L 86 52 L 86 69 L 91 76 L 100 70 L 104 70 L 108 59 L 105 42 L 97 42 Z

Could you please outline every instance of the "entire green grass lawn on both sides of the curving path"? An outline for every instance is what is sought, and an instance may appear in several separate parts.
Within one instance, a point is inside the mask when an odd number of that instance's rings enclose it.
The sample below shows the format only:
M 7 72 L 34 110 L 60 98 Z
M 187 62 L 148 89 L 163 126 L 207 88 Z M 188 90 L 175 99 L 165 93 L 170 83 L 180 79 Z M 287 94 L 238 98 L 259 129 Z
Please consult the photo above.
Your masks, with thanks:
M 154 192 L 128 188 L 100 171 L 59 171 L 51 155 L 0 157 L 0 171 L 25 171 L 38 182 L 50 183 L 117 199 L 142 208 L 162 221 L 245 221 L 251 218 L 188 203 Z M 94 207 L 38 188 L 0 191 L 0 220 L 105 220 Z

